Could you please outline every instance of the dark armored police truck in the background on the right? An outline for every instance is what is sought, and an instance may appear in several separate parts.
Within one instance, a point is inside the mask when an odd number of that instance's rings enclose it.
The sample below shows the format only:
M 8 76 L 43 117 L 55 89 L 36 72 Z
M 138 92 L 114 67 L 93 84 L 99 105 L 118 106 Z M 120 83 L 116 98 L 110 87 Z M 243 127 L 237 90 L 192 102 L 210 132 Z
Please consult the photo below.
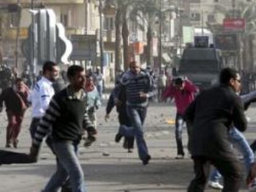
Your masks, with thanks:
M 223 67 L 220 49 L 208 46 L 208 37 L 200 36 L 195 37 L 195 46 L 184 49 L 178 75 L 186 76 L 203 90 L 218 82 Z

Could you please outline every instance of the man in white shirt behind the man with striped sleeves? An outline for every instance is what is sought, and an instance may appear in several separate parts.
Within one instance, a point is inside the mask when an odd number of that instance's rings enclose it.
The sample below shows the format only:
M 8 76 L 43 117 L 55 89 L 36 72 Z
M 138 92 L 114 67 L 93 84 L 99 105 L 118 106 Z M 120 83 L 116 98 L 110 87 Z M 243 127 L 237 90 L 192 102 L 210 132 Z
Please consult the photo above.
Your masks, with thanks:
M 32 122 L 30 124 L 30 136 L 33 139 L 36 127 L 54 95 L 53 81 L 59 75 L 58 64 L 46 61 L 43 65 L 43 77 L 36 82 L 30 100 L 32 102 Z

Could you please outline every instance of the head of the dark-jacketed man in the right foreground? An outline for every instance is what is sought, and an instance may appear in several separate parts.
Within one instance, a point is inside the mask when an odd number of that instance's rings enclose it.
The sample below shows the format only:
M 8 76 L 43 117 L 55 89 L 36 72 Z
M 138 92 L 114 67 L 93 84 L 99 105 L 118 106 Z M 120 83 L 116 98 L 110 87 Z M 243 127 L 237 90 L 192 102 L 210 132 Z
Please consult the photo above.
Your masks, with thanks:
M 236 93 L 241 91 L 241 77 L 237 70 L 229 67 L 221 70 L 220 83 L 231 86 Z

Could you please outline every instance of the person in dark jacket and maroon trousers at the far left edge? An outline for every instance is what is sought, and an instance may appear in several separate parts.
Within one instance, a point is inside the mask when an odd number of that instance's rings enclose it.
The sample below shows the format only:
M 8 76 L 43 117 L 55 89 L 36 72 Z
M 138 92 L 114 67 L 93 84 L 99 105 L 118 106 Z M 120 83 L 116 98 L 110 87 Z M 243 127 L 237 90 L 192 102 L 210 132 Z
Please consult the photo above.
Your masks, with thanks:
M 6 148 L 17 148 L 18 135 L 23 120 L 23 115 L 28 108 L 29 89 L 21 78 L 15 80 L 15 85 L 2 91 L 0 96 L 0 112 L 3 102 L 6 106 L 8 125 L 6 128 Z

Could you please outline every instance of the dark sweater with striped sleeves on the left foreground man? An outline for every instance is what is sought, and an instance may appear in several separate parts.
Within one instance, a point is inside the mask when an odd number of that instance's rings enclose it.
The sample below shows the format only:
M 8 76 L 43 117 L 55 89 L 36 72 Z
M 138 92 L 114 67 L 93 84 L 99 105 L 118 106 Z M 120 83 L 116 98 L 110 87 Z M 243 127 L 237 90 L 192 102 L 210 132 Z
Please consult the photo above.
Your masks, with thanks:
M 85 94 L 82 99 L 77 99 L 69 94 L 68 88 L 55 94 L 36 128 L 33 146 L 39 147 L 49 132 L 53 141 L 79 143 L 83 129 L 93 127 L 86 108 Z

